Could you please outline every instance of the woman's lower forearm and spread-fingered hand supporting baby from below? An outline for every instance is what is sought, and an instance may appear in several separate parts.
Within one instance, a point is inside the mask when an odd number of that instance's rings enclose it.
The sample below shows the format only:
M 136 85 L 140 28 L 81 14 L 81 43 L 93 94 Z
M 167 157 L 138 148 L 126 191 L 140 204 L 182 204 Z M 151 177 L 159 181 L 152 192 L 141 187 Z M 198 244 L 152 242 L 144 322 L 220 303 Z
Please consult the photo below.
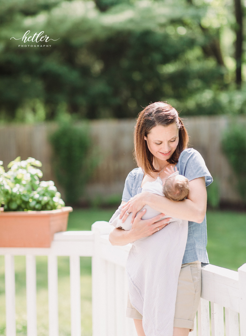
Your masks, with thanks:
M 162 197 L 162 196 L 161 196 Z M 121 204 L 126 202 L 122 201 Z M 161 230 L 167 224 L 171 218 L 160 220 L 164 214 L 160 214 L 150 219 L 141 219 L 145 213 L 145 209 L 141 211 L 135 218 L 132 224 L 132 228 L 129 231 L 122 230 L 120 228 L 114 228 L 109 234 L 109 241 L 112 245 L 127 245 L 134 242 L 137 239 L 151 236 L 156 231 Z M 160 220 L 156 223 L 156 221 Z M 157 228 L 158 227 L 158 228 Z

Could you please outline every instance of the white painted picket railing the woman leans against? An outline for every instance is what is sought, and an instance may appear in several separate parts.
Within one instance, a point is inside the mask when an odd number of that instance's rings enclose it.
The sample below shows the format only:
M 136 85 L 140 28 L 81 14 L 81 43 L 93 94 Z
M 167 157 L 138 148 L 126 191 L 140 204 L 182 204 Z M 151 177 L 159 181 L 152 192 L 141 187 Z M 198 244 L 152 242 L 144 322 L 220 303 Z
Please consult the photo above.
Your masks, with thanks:
M 81 336 L 80 256 L 92 256 L 93 336 L 136 336 L 133 320 L 125 317 L 125 263 L 131 246 L 112 246 L 110 229 L 107 222 L 99 221 L 92 231 L 55 234 L 50 248 L 0 248 L 0 255 L 5 256 L 6 336 L 16 335 L 15 255 L 26 256 L 27 336 L 37 336 L 38 255 L 48 256 L 49 336 L 59 335 L 58 256 L 70 257 L 71 336 Z M 246 264 L 238 272 L 214 265 L 202 269 L 197 317 L 198 336 L 246 336 Z M 195 335 L 197 330 L 190 333 Z

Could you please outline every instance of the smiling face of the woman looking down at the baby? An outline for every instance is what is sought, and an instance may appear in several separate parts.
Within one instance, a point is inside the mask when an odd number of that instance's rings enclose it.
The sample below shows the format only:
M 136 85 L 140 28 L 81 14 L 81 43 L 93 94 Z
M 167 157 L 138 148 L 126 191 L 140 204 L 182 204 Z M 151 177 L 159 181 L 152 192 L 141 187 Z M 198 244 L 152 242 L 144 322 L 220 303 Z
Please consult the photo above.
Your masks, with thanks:
M 166 161 L 171 158 L 178 145 L 178 127 L 176 123 L 154 126 L 144 139 L 154 158 Z

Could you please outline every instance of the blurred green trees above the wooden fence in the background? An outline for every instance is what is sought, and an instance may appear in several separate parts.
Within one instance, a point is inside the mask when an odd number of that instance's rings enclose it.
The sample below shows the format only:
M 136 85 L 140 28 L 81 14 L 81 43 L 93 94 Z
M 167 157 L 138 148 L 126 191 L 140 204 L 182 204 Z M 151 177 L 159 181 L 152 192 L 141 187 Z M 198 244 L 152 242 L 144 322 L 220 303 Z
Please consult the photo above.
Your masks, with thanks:
M 181 116 L 245 113 L 244 11 L 240 0 L 2 0 L 0 120 L 134 118 L 156 100 Z M 28 30 L 58 40 L 10 40 Z

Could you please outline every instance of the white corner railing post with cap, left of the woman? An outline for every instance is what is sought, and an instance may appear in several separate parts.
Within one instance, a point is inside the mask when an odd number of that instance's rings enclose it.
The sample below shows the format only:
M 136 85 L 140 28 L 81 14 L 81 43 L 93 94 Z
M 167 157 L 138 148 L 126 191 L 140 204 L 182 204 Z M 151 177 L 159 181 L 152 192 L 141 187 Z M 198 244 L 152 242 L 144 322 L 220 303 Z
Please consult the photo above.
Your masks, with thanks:
M 92 257 L 92 335 L 107 336 L 107 293 L 106 261 L 100 257 L 100 236 L 110 233 L 111 225 L 106 221 L 92 224 L 94 232 L 94 255 Z

